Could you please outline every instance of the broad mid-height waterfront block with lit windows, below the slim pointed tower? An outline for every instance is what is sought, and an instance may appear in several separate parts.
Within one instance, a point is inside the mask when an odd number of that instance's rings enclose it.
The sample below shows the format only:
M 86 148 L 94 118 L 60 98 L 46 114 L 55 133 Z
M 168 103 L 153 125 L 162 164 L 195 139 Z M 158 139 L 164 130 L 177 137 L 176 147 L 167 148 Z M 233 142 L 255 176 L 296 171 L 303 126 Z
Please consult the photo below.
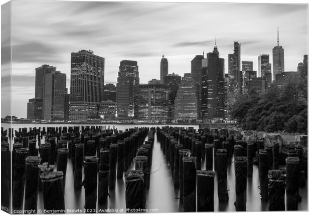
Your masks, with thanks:
M 169 87 L 160 80 L 139 84 L 138 120 L 167 121 L 169 117 Z

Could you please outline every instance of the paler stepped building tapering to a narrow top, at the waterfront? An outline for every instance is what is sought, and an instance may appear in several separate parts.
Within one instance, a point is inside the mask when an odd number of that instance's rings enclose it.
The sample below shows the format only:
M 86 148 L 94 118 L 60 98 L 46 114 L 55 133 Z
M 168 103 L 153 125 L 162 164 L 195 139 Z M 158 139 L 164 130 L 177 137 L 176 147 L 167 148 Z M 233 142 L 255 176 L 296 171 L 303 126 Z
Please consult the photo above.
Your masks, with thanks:
M 192 78 L 191 73 L 185 73 L 175 98 L 174 119 L 177 121 L 193 121 L 199 117 L 200 85 Z

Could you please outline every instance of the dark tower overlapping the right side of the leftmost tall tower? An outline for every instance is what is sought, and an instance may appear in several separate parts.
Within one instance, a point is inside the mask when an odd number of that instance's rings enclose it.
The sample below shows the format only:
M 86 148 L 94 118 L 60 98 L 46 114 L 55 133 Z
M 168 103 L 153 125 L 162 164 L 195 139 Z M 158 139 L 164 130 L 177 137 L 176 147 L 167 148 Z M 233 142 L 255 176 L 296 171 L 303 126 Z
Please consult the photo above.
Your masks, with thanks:
M 43 119 L 64 120 L 66 105 L 66 74 L 51 71 L 43 76 Z

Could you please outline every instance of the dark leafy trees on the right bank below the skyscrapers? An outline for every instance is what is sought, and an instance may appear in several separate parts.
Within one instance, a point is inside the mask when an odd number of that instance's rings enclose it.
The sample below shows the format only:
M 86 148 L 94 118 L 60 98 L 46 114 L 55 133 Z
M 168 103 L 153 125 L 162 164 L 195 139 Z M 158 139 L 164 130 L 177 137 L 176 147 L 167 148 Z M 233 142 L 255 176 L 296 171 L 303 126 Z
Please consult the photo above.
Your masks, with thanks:
M 307 76 L 297 72 L 261 94 L 248 91 L 236 99 L 231 115 L 245 130 L 307 133 Z

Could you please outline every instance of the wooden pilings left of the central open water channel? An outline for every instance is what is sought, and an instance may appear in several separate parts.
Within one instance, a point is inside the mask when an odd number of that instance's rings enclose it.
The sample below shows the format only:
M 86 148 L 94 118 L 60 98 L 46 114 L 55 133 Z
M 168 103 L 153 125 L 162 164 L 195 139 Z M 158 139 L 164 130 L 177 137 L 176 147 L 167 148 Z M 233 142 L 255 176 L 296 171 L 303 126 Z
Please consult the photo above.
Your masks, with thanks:
M 154 128 L 117 131 L 114 128 L 106 130 L 106 126 L 81 126 L 80 132 L 80 127 L 74 126 L 68 129 L 48 127 L 47 131 L 43 128 L 44 132 L 39 132 L 40 128 L 30 129 L 29 132 L 27 128 L 19 130 L 20 132 L 16 133 L 18 135 L 13 138 L 12 173 L 9 168 L 9 137 L 2 137 L 2 187 L 8 187 L 8 192 L 2 192 L 2 203 L 6 203 L 9 208 L 10 197 L 4 197 L 10 193 L 12 174 L 12 205 L 16 213 L 21 210 L 27 213 L 37 212 L 38 190 L 43 192 L 45 210 L 65 212 L 64 187 L 68 159 L 72 161 L 74 189 L 81 189 L 82 186 L 85 188 L 86 211 L 95 212 L 97 202 L 99 209 L 107 209 L 108 190 L 115 188 L 116 178 L 122 178 L 124 173 L 126 208 L 145 208 L 145 189 L 149 187 Z M 43 144 L 39 140 L 42 134 L 45 135 Z M 147 136 L 147 141 L 144 141 Z M 36 147 L 36 137 L 39 148 Z M 129 170 L 133 161 L 135 170 Z M 53 171 L 54 165 L 56 171 Z M 137 187 L 140 187 L 141 192 L 137 192 Z

